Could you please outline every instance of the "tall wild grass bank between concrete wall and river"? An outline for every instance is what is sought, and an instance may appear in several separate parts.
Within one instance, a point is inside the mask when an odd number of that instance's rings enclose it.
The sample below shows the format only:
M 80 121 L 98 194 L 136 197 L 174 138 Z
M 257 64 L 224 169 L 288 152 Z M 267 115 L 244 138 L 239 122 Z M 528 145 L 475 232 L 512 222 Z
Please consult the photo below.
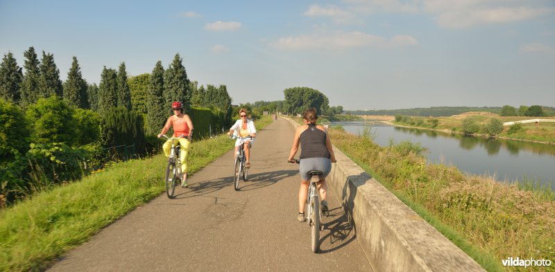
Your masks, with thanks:
M 368 137 L 336 129 L 330 136 L 336 147 L 488 271 L 515 269 L 501 265 L 507 257 L 555 261 L 555 202 L 548 192 L 429 164 L 417 144 L 379 147 Z

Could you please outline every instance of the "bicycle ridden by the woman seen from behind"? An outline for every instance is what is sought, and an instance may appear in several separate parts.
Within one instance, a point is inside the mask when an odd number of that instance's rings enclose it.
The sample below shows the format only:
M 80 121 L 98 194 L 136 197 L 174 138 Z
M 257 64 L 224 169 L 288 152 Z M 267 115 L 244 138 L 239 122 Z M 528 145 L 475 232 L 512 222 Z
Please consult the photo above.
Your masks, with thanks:
M 299 163 L 299 160 L 288 161 L 289 163 Z M 322 223 L 322 213 L 320 210 L 320 197 L 318 195 L 318 183 L 323 175 L 322 171 L 310 170 L 310 185 L 307 192 L 307 224 L 311 228 L 311 248 L 316 253 L 320 249 L 320 231 L 324 230 Z

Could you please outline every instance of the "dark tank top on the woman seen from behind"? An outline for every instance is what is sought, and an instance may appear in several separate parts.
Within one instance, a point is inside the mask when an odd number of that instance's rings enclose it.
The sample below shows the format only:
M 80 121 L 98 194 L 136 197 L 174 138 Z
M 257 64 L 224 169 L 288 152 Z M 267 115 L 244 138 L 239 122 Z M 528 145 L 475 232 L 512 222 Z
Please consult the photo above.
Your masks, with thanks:
M 316 128 L 316 125 L 308 124 L 308 129 L 299 136 L 299 158 L 331 158 L 330 151 L 325 146 L 325 137 L 325 132 Z

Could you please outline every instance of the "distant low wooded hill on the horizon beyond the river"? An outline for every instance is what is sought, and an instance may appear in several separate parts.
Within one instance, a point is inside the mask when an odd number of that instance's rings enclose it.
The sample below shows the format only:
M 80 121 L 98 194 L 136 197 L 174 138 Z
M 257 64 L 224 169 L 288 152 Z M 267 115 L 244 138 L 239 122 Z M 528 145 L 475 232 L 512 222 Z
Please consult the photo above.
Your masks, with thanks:
M 429 107 L 429 108 L 414 108 L 414 109 L 379 109 L 373 111 L 348 111 L 345 114 L 354 115 L 405 115 L 405 116 L 452 116 L 456 114 L 463 114 L 468 111 L 488 111 L 493 114 L 501 113 L 502 107 Z M 554 107 L 543 107 L 546 114 L 549 116 L 555 115 Z

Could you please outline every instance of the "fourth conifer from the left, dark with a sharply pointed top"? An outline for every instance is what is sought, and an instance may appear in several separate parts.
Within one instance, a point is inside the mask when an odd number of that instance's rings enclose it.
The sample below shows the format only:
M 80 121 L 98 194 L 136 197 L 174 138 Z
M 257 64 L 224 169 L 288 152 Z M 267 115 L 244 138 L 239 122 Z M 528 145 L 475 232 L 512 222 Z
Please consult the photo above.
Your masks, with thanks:
M 77 57 L 71 63 L 71 69 L 67 72 L 67 80 L 64 84 L 64 98 L 69 100 L 69 105 L 80 109 L 88 108 L 87 82 L 83 80 Z

